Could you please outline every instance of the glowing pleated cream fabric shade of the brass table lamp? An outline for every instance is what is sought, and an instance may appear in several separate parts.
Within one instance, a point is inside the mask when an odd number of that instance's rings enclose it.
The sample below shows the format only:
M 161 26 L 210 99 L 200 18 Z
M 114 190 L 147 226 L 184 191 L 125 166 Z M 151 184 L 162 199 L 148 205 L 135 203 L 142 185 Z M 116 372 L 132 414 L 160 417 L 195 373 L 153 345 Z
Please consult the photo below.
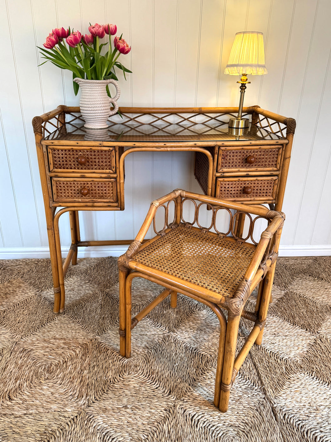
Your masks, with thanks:
M 264 75 L 263 33 L 258 31 L 237 32 L 225 73 L 230 75 Z

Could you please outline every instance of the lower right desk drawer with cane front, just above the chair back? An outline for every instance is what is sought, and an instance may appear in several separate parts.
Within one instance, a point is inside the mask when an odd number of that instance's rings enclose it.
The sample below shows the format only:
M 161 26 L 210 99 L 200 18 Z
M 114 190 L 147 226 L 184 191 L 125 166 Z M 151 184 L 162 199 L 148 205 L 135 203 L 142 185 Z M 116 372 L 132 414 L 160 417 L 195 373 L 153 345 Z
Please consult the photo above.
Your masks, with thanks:
M 217 178 L 216 198 L 274 202 L 278 177 Z

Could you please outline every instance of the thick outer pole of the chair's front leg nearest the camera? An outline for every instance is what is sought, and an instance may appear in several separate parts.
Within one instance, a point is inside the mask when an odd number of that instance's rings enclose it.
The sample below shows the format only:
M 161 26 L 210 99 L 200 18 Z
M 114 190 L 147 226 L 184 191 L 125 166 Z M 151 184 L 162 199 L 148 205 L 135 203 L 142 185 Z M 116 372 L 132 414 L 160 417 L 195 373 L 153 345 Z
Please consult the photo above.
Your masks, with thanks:
M 237 337 L 239 329 L 240 315 L 234 316 L 229 312 L 228 324 L 226 326 L 225 352 L 223 362 L 222 384 L 219 399 L 219 409 L 226 412 L 229 407 L 229 396 L 232 387 L 232 371 L 234 357 L 236 354 Z

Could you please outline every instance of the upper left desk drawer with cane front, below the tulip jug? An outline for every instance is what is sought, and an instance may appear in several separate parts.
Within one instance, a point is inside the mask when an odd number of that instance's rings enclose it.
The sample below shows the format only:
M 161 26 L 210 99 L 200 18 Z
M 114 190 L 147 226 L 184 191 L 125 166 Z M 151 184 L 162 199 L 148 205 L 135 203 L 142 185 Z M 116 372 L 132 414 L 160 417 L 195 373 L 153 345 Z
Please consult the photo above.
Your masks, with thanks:
M 81 149 L 75 146 L 49 146 L 51 172 L 90 171 L 116 173 L 115 149 Z

